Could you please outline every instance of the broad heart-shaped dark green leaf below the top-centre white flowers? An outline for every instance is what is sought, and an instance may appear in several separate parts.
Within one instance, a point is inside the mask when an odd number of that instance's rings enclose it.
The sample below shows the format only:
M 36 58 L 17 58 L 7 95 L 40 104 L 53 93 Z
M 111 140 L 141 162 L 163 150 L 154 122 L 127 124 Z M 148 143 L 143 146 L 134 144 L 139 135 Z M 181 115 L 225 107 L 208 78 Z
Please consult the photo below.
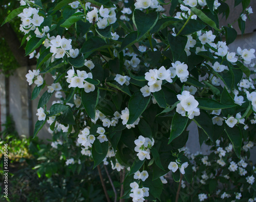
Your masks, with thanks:
M 137 40 L 149 32 L 157 23 L 158 13 L 144 13 L 138 9 L 134 10 L 133 23 L 138 30 Z

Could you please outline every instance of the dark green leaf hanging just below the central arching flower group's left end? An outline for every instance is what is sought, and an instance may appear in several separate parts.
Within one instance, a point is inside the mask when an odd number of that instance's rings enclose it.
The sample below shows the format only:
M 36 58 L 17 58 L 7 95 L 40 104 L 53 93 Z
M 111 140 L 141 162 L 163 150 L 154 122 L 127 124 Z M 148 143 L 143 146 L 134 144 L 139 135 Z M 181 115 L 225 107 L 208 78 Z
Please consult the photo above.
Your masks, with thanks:
M 129 120 L 127 124 L 133 124 L 150 103 L 150 96 L 144 97 L 140 91 L 133 94 L 129 100 Z

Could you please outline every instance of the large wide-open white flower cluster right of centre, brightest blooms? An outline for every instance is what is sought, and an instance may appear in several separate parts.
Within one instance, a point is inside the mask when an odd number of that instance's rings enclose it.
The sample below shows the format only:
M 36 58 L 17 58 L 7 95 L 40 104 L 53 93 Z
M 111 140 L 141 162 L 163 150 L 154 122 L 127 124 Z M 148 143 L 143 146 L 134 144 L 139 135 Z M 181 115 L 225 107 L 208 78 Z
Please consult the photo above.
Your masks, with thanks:
M 176 111 L 181 116 L 188 116 L 189 119 L 194 119 L 194 116 L 200 115 L 200 110 L 197 107 L 199 103 L 188 91 L 183 91 L 181 95 L 177 95 L 177 98 L 180 103 L 177 104 Z

